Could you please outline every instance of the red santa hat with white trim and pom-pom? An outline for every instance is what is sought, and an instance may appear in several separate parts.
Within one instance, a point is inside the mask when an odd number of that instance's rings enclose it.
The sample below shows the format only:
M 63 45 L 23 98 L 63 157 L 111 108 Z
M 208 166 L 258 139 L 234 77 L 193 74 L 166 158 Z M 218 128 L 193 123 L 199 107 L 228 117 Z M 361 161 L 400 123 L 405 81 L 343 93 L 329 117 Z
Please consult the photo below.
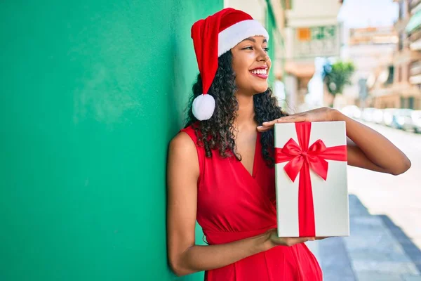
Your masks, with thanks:
M 194 22 L 192 39 L 203 86 L 203 94 L 193 100 L 192 111 L 196 119 L 210 119 L 215 110 L 215 99 L 208 95 L 208 91 L 218 70 L 220 55 L 253 36 L 269 40 L 269 34 L 258 20 L 233 8 L 225 8 Z

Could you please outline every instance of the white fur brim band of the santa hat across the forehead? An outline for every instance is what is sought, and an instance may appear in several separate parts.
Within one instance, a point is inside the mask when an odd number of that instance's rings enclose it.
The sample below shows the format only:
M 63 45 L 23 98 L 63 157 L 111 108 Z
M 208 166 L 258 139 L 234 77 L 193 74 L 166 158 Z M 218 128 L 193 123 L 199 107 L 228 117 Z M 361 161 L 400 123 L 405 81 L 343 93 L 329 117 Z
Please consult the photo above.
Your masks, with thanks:
M 244 39 L 259 35 L 269 41 L 269 34 L 258 20 L 242 20 L 227 27 L 218 34 L 218 57 Z

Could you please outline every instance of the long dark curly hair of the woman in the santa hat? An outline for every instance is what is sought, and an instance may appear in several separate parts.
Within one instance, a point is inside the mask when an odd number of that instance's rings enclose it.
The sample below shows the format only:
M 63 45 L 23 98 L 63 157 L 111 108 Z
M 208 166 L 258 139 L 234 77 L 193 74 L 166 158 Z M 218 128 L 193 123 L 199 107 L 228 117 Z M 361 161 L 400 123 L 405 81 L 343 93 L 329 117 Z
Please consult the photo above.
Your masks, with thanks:
M 232 70 L 232 53 L 228 51 L 218 58 L 218 70 L 210 86 L 208 94 L 215 98 L 215 111 L 208 120 L 198 122 L 192 113 L 192 103 L 196 96 L 201 95 L 202 81 L 200 74 L 193 85 L 193 95 L 190 97 L 187 107 L 187 120 L 185 126 L 193 125 L 198 138 L 198 144 L 205 148 L 206 157 L 212 157 L 212 150 L 218 150 L 221 157 L 231 157 L 234 155 L 241 159 L 241 155 L 236 153 L 234 141 L 233 123 L 236 119 L 236 112 L 239 104 L 234 96 L 236 91 L 235 74 Z M 253 96 L 255 108 L 255 121 L 261 125 L 262 122 L 270 121 L 282 116 L 286 116 L 278 106 L 277 100 L 272 96 L 272 90 L 267 89 L 264 93 Z M 274 130 L 265 131 L 261 137 L 262 156 L 268 166 L 274 165 Z

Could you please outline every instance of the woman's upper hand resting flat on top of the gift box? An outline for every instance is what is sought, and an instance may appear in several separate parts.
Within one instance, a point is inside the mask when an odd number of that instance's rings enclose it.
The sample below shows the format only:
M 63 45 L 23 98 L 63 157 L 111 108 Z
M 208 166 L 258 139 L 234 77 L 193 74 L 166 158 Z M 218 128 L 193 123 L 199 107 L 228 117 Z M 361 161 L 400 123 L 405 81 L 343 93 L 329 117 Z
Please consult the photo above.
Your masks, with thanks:
M 321 107 L 315 110 L 309 110 L 306 112 L 281 117 L 269 122 L 263 122 L 262 126 L 258 126 L 258 131 L 262 132 L 272 129 L 276 123 L 333 121 L 335 111 L 336 110 L 330 107 Z

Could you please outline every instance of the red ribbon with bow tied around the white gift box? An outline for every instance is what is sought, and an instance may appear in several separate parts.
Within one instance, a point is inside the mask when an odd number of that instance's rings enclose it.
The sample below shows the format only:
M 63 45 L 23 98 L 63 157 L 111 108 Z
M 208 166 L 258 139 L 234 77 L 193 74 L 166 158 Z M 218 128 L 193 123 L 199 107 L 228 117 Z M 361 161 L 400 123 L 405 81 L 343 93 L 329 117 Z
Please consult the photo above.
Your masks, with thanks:
M 347 145 L 338 145 L 326 148 L 321 139 L 309 147 L 312 123 L 295 123 L 298 145 L 292 138 L 283 146 L 275 148 L 275 163 L 288 162 L 283 168 L 288 177 L 294 182 L 300 172 L 298 183 L 298 225 L 300 237 L 316 236 L 314 223 L 314 205 L 312 193 L 312 180 L 310 169 L 326 181 L 328 176 L 329 160 L 347 161 Z

